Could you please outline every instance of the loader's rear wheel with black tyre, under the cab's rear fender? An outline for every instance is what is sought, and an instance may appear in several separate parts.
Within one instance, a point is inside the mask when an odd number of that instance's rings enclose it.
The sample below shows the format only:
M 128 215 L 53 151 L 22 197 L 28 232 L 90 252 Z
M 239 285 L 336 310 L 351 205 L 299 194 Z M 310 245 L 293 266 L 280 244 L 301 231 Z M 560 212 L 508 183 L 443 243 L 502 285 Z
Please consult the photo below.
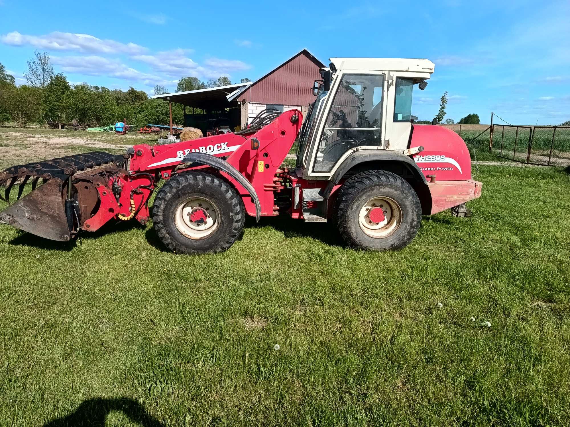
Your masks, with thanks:
M 401 249 L 416 236 L 421 204 L 406 180 L 391 172 L 368 170 L 351 176 L 335 203 L 336 224 L 352 247 Z

